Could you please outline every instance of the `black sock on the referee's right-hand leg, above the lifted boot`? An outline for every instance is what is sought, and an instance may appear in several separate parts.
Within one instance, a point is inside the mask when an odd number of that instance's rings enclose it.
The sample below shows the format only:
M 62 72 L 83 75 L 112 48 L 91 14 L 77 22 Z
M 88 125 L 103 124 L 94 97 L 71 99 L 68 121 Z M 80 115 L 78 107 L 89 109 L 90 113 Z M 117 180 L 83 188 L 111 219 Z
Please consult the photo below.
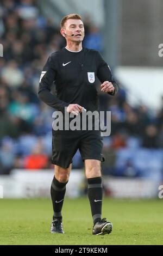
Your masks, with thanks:
M 88 182 L 88 197 L 91 205 L 93 223 L 101 221 L 102 213 L 102 179 L 101 177 L 87 179 Z

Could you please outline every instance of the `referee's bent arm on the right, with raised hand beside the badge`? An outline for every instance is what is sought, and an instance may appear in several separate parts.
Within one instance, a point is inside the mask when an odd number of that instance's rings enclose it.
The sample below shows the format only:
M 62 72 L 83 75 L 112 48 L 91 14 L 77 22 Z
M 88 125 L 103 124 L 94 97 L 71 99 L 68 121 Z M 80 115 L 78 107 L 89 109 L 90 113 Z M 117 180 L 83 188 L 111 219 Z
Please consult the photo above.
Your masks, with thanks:
M 113 95 L 113 96 L 116 95 L 118 92 L 118 85 L 114 80 L 114 78 L 112 77 L 112 73 L 109 66 L 103 60 L 99 52 L 97 52 L 97 63 L 98 63 L 97 77 L 99 81 L 102 82 L 101 90 L 110 95 Z

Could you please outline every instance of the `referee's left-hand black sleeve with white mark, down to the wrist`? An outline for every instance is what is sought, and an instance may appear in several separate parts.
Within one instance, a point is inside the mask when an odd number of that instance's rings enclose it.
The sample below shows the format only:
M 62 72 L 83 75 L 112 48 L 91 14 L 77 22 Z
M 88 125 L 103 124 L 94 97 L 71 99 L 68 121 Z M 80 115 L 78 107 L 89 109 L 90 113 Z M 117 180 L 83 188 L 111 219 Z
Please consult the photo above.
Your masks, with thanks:
M 51 93 L 51 86 L 55 80 L 55 76 L 55 63 L 52 56 L 50 56 L 41 72 L 38 97 L 48 106 L 64 112 L 65 107 L 69 104 L 65 101 L 59 100 L 57 96 L 54 96 Z

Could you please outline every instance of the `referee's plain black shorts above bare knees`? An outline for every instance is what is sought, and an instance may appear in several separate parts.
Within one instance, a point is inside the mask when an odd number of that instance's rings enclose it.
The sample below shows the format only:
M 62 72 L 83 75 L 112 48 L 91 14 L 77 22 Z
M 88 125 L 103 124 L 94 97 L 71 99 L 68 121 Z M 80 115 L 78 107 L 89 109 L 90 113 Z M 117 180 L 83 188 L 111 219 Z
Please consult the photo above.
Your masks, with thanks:
M 54 131 L 52 139 L 52 163 L 68 168 L 79 149 L 83 161 L 104 161 L 103 142 L 100 131 Z

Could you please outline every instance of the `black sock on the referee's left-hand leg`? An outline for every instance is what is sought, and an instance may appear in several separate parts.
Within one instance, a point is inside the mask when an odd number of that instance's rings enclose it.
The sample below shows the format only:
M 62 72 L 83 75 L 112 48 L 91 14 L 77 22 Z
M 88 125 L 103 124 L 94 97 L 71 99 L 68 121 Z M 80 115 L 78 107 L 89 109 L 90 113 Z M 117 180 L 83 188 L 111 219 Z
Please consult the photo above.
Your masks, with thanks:
M 68 182 L 68 181 L 67 181 Z M 62 218 L 61 210 L 64 203 L 64 197 L 66 193 L 66 183 L 59 182 L 55 179 L 55 176 L 51 185 L 51 198 L 53 203 L 53 218 Z

